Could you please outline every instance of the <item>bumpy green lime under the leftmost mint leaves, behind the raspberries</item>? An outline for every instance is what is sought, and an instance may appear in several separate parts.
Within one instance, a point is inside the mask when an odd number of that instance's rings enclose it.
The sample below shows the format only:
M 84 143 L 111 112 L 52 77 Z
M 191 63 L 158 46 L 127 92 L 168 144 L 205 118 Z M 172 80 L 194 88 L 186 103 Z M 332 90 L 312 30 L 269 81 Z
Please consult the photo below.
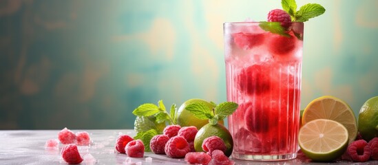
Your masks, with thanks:
M 153 115 L 150 116 L 136 116 L 134 121 L 134 130 L 136 133 L 156 129 L 158 133 L 162 133 L 165 128 L 165 123 L 157 123 Z

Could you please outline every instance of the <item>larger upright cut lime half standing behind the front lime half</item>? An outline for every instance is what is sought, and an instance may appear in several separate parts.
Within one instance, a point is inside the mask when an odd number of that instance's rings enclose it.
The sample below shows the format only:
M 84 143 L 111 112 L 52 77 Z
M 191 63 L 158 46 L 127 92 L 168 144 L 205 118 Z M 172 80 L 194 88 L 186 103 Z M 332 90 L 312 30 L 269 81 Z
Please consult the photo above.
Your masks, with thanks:
M 315 119 L 329 119 L 339 122 L 348 130 L 349 142 L 357 136 L 357 120 L 355 113 L 346 102 L 333 96 L 322 96 L 311 101 L 302 116 L 302 124 Z

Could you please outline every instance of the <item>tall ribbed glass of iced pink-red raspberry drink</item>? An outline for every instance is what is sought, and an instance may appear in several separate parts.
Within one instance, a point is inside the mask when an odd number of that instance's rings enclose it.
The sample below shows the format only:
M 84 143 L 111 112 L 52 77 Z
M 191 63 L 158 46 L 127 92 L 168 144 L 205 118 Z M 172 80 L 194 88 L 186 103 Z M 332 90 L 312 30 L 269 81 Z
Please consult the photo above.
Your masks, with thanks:
M 282 36 L 258 22 L 224 23 L 227 100 L 239 104 L 228 118 L 235 158 L 297 156 L 303 23 L 289 25 Z

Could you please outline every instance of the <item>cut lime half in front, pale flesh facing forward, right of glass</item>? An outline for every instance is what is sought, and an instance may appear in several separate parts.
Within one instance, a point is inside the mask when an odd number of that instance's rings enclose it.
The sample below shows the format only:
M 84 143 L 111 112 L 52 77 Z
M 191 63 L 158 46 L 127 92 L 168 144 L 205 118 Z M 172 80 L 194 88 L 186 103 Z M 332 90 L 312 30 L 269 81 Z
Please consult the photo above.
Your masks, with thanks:
M 298 133 L 302 152 L 315 161 L 330 162 L 342 156 L 348 147 L 348 130 L 334 120 L 307 122 Z

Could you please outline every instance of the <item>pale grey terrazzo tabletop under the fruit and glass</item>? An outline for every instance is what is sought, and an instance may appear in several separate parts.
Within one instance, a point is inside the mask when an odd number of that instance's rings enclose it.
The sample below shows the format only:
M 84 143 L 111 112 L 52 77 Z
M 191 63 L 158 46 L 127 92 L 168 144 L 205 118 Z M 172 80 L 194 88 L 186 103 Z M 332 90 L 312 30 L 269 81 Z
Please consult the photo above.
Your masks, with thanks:
M 60 130 L 17 130 L 0 131 L 0 164 L 66 164 L 60 155 L 63 147 L 45 148 L 45 142 L 57 139 Z M 90 146 L 79 146 L 84 157 L 81 164 L 186 164 L 184 159 L 171 159 L 166 155 L 146 152 L 144 157 L 132 158 L 116 153 L 114 144 L 119 133 L 134 136 L 134 130 L 72 130 L 87 131 L 92 139 Z M 151 157 L 152 162 L 146 162 Z M 252 162 L 233 159 L 235 164 L 356 164 L 354 162 L 318 163 L 310 162 L 306 157 L 277 162 Z M 378 164 L 369 161 L 364 164 Z

